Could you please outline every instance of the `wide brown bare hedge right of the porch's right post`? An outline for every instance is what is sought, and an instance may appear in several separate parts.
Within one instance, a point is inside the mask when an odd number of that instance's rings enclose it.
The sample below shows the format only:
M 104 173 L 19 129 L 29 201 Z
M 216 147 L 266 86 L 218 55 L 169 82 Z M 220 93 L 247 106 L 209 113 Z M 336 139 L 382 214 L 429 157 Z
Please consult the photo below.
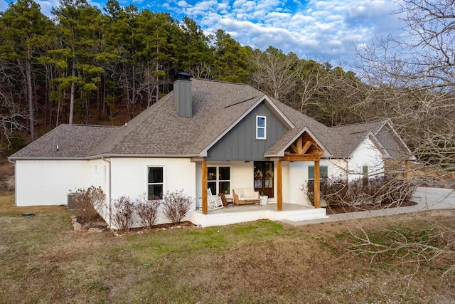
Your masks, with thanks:
M 401 206 L 410 201 L 417 185 L 404 179 L 375 177 L 373 179 L 330 178 L 321 182 L 321 199 L 328 208 L 342 207 L 346 210 L 369 210 Z M 309 183 L 306 195 L 314 201 L 314 187 Z

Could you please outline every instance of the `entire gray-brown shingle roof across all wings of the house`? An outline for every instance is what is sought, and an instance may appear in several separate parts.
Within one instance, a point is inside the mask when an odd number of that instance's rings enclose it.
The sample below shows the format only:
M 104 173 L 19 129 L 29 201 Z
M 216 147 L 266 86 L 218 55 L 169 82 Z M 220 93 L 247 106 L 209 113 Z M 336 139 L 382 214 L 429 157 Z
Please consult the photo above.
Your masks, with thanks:
M 173 93 L 141 112 L 121 127 L 60 125 L 16 152 L 16 158 L 84 158 L 100 155 L 187 156 L 201 154 L 223 132 L 264 99 L 264 93 L 250 85 L 192 78 L 193 117 L 178 117 Z M 323 145 L 326 156 L 348 157 L 360 134 L 378 128 L 373 124 L 326 127 L 277 100 L 269 99 L 294 126 L 267 150 L 277 154 L 304 128 Z M 382 124 L 382 122 L 381 122 Z M 363 132 L 363 133 L 362 133 Z M 362 138 L 362 140 L 363 140 Z M 60 150 L 55 147 L 59 145 Z

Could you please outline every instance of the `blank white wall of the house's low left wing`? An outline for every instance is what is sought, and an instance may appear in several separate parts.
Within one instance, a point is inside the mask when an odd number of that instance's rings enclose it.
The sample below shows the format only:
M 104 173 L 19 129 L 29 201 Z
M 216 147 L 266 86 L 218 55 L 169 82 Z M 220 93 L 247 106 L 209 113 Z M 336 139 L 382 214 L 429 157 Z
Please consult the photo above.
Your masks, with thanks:
M 87 160 L 16 160 L 16 206 L 67 204 L 68 194 L 90 187 Z

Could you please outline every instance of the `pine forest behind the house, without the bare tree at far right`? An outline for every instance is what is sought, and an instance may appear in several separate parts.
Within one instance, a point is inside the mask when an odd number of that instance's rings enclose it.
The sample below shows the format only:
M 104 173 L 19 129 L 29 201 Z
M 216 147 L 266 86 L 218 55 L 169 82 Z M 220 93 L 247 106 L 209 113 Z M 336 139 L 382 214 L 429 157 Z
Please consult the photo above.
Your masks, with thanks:
M 51 19 L 33 0 L 11 2 L 0 16 L 0 69 L 4 148 L 60 123 L 121 125 L 172 90 L 181 71 L 250 83 L 327 125 L 358 120 L 333 106 L 360 98 L 343 85 L 360 85 L 352 72 L 272 46 L 241 46 L 222 30 L 206 36 L 192 19 L 116 0 L 104 11 L 60 0 Z

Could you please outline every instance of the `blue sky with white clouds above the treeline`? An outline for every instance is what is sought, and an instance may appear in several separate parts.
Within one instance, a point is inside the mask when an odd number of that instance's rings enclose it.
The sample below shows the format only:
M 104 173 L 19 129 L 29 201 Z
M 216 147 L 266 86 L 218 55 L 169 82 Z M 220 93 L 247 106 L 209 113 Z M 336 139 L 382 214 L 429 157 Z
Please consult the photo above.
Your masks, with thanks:
M 37 1 L 37 0 L 36 0 Z M 39 0 L 44 14 L 58 0 Z M 89 0 L 100 9 L 105 1 Z M 394 0 L 119 0 L 122 6 L 167 11 L 173 18 L 194 19 L 205 31 L 222 28 L 243 46 L 268 46 L 293 52 L 300 58 L 353 65 L 355 46 L 369 45 L 376 37 L 397 34 L 402 26 L 392 14 Z M 7 1 L 0 0 L 0 11 Z

